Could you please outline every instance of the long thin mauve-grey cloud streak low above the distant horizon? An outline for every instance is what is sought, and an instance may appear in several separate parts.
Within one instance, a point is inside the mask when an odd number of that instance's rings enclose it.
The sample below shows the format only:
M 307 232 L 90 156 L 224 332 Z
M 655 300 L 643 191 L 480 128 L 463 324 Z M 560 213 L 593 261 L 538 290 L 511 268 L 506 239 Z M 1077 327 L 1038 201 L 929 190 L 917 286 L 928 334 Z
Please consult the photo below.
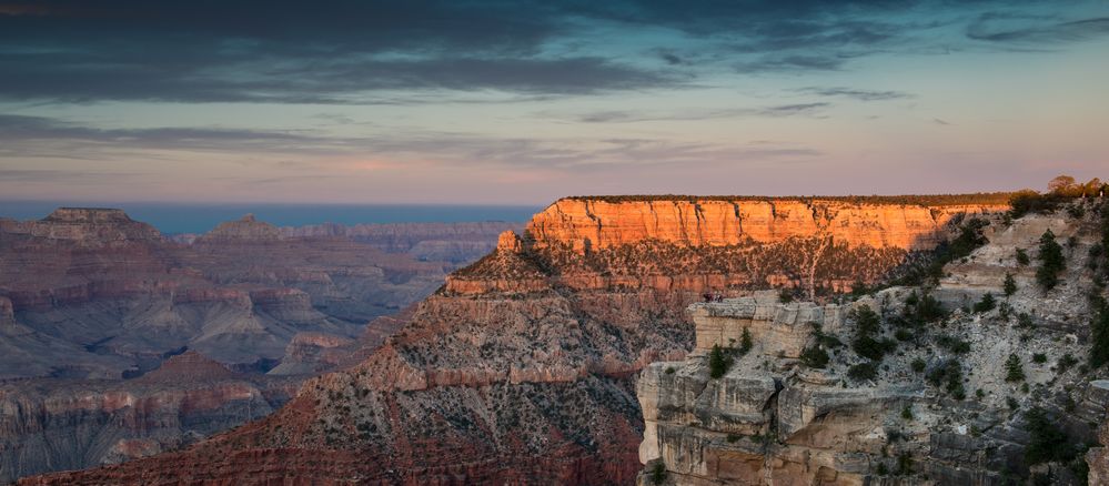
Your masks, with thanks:
M 778 108 L 805 111 L 811 108 Z M 134 151 L 204 151 L 229 155 L 308 155 L 325 160 L 381 159 L 391 166 L 501 168 L 589 170 L 614 165 L 643 166 L 719 160 L 796 159 L 819 154 L 792 144 L 738 145 L 716 142 L 672 142 L 647 139 L 498 138 L 474 133 L 404 131 L 374 136 L 339 138 L 314 132 L 268 132 L 212 128 L 100 129 L 65 121 L 0 115 L 0 155 L 54 156 L 78 151 L 92 160 L 134 158 Z M 138 156 L 144 156 L 142 155 Z M 341 162 L 335 162 L 341 163 Z M 285 164 L 285 162 L 276 162 Z M 317 173 L 319 164 L 284 166 Z M 36 174 L 28 174 L 32 176 Z M 48 178 L 49 173 L 37 174 Z

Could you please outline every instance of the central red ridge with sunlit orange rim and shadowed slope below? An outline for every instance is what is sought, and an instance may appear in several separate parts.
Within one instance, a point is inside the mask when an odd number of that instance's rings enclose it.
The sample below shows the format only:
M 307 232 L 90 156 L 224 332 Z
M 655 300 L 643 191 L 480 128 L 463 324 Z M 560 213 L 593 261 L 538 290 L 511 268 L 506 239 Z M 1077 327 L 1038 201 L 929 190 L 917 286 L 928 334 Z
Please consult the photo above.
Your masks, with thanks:
M 27 484 L 629 484 L 634 376 L 694 343 L 685 307 L 896 274 L 996 198 L 565 199 L 454 272 L 360 364 L 181 452 Z

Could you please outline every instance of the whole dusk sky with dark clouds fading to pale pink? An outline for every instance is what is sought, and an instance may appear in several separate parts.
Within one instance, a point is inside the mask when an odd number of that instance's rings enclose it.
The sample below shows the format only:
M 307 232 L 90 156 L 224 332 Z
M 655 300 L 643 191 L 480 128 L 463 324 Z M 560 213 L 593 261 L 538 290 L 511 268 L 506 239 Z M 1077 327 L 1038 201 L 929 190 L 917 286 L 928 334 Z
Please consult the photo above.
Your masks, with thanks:
M 1106 87 L 1107 0 L 0 0 L 0 199 L 1042 189 Z

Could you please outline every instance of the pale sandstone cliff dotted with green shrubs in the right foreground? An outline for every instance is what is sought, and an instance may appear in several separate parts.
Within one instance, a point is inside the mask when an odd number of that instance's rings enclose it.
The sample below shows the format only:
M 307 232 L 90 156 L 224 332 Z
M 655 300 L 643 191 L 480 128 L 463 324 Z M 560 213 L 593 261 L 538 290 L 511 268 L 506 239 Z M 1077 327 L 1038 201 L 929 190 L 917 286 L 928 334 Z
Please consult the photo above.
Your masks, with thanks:
M 1101 209 L 1073 204 L 1081 209 L 992 221 L 988 243 L 947 265 L 935 288 L 890 287 L 840 306 L 692 305 L 694 351 L 647 366 L 637 383 L 638 483 L 1085 485 L 1088 474 L 1103 484 L 1109 455 L 1085 448 L 1109 443 L 1090 426 L 1105 423 L 1109 381 L 1078 366 L 1090 351 L 1091 295 L 1106 295 L 1096 283 L 1107 264 L 1096 250 Z M 1109 217 L 1100 224 L 1109 230 Z M 1045 292 L 1016 250 L 1035 257 L 1047 229 L 1068 242 L 1068 270 Z M 1018 283 L 1008 297 L 1006 275 Z M 998 303 L 971 310 L 986 293 Z M 949 313 L 921 322 L 920 302 L 934 297 Z M 884 356 L 864 356 L 874 348 L 859 344 L 863 307 L 881 316 L 874 343 L 889 343 Z M 750 351 L 712 377 L 710 350 L 734 350 L 744 328 Z M 825 350 L 828 363 L 806 360 L 809 350 Z

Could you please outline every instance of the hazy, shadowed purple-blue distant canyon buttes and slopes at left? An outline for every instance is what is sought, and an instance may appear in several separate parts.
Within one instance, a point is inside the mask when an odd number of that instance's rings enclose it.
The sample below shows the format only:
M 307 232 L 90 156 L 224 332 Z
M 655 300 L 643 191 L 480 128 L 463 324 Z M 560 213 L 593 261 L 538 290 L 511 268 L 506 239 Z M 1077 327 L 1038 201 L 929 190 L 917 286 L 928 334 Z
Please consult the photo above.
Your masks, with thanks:
M 452 226 L 389 226 L 412 246 L 460 235 L 436 260 L 252 216 L 191 243 L 119 210 L 0 219 L 0 480 L 149 455 L 268 414 L 304 377 L 380 344 L 396 328 L 384 315 L 517 225 Z M 238 374 L 194 385 L 182 356 Z M 149 378 L 165 366 L 182 379 Z

